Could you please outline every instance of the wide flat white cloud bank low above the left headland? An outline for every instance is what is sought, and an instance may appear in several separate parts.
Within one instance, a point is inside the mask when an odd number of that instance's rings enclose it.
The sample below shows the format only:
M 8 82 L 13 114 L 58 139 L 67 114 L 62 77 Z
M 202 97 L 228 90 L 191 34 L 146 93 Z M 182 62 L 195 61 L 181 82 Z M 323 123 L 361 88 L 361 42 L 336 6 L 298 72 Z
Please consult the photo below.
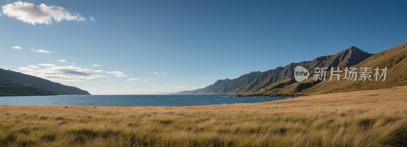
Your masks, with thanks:
M 28 67 L 19 67 L 19 70 L 27 75 L 55 81 L 83 81 L 107 78 L 106 76 L 93 75 L 93 70 L 91 69 L 83 69 L 80 67 L 75 67 L 73 65 L 63 67 L 47 67 L 46 69 L 38 70 Z

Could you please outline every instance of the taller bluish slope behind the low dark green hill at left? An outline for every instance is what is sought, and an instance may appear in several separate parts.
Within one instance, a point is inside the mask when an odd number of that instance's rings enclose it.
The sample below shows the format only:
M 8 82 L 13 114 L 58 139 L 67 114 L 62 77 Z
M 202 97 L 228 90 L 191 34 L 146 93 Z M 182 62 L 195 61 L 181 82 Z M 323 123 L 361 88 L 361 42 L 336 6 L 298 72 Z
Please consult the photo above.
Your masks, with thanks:
M 58 95 L 90 95 L 88 91 L 84 91 L 76 87 L 62 85 L 60 83 L 51 82 L 35 76 L 25 75 L 24 73 L 16 71 L 4 70 L 0 68 L 0 75 L 9 81 L 47 89 Z

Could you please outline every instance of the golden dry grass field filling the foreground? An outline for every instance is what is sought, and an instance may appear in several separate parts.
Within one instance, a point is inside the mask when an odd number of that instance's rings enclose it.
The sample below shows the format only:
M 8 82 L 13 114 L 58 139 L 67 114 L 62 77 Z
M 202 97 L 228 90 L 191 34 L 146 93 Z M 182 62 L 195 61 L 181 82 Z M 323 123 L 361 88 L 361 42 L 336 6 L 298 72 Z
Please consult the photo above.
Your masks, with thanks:
M 211 106 L 0 105 L 0 146 L 407 146 L 407 86 Z

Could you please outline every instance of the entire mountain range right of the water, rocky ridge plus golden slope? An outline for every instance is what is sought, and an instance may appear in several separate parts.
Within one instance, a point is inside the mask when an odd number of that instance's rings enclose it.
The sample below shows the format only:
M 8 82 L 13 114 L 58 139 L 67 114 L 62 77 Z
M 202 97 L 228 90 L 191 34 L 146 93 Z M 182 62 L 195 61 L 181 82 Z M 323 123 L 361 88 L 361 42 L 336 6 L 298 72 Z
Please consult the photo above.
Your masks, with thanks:
M 202 89 L 171 94 L 318 94 L 404 86 L 407 85 L 407 74 L 405 74 L 407 70 L 404 70 L 407 67 L 407 61 L 404 59 L 407 56 L 406 45 L 407 43 L 404 43 L 378 54 L 369 54 L 356 47 L 351 47 L 334 55 L 317 57 L 311 61 L 290 63 L 265 72 L 251 72 L 237 79 L 218 80 L 213 85 Z M 302 66 L 310 71 L 311 78 L 302 82 L 295 81 L 294 69 L 296 66 Z M 344 72 L 340 74 L 342 79 L 340 81 L 312 80 L 315 67 L 327 67 L 327 77 L 329 77 L 331 67 L 334 69 L 339 67 L 341 70 L 344 70 L 345 67 L 357 67 L 359 71 L 360 67 L 365 66 L 387 67 L 389 70 L 386 81 L 347 81 L 343 80 Z M 394 72 L 399 77 L 394 76 Z M 373 75 L 371 76 L 373 77 Z

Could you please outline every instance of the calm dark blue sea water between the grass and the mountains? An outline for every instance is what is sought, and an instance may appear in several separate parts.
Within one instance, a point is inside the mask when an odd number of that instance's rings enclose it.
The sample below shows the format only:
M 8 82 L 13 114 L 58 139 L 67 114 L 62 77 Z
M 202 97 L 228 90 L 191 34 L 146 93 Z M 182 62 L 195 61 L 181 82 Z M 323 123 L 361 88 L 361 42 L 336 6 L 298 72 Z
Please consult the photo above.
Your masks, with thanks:
M 229 97 L 233 95 L 50 95 L 3 96 L 4 105 L 70 105 L 70 106 L 194 106 L 257 103 L 286 97 Z

